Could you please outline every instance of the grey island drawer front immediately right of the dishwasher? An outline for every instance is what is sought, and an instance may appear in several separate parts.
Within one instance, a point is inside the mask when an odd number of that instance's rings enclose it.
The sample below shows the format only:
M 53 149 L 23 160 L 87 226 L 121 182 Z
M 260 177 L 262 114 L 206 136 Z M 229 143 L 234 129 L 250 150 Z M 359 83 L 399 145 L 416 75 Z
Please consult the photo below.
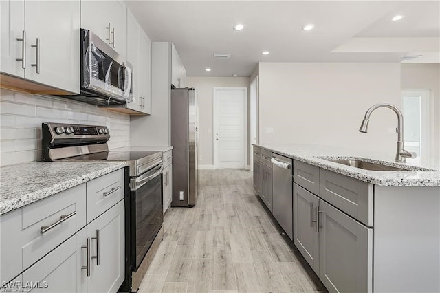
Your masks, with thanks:
M 294 161 L 294 182 L 311 193 L 319 194 L 319 167 Z

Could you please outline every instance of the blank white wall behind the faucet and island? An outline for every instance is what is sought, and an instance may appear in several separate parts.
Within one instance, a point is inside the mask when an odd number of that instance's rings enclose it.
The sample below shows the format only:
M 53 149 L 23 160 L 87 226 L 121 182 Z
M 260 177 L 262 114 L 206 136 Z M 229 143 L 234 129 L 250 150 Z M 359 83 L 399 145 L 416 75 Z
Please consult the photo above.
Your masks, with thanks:
M 358 129 L 375 103 L 401 107 L 399 63 L 260 63 L 259 87 L 261 143 L 343 146 L 394 158 L 393 111 L 377 109 L 369 133 Z

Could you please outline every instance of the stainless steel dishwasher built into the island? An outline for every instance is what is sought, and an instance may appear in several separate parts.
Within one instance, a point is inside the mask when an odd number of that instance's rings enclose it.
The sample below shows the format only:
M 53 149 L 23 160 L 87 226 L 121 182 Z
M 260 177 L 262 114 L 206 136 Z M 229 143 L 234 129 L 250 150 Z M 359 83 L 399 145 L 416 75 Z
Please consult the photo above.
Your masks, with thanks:
M 292 159 L 272 155 L 273 215 L 290 239 L 294 238 L 292 203 Z

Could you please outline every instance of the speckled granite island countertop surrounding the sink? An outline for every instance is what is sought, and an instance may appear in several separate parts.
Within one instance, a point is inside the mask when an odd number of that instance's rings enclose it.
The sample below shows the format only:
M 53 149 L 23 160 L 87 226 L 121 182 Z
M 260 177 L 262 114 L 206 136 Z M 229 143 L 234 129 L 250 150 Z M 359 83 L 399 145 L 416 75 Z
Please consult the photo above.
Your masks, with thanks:
M 406 163 L 395 163 L 393 161 L 395 154 L 356 151 L 335 146 L 320 146 L 314 144 L 254 145 L 280 155 L 285 155 L 294 160 L 306 162 L 323 169 L 328 169 L 380 186 L 440 186 L 440 160 L 427 160 L 415 163 L 414 160 L 407 159 Z M 402 169 L 408 169 L 408 171 L 369 171 L 338 164 L 336 162 L 329 162 L 319 157 L 329 159 L 364 158 L 369 159 L 368 162 L 396 166 Z M 433 169 L 434 171 L 412 171 L 419 170 L 419 168 Z

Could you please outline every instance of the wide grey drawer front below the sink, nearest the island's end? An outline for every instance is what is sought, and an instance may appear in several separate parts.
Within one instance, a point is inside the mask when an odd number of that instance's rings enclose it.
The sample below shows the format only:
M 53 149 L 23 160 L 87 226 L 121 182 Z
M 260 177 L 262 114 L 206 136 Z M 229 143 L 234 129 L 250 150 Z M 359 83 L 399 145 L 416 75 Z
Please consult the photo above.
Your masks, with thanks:
M 373 184 L 320 169 L 320 197 L 366 226 L 373 226 Z

